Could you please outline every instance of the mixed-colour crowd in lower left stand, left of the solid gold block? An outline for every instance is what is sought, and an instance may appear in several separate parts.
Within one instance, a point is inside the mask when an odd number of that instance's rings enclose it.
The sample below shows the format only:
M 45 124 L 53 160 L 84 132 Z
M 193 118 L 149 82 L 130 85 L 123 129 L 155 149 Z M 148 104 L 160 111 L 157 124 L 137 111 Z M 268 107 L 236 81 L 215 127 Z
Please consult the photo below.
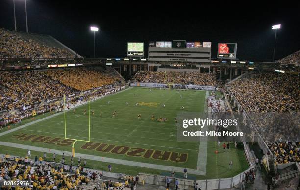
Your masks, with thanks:
M 22 107 L 64 94 L 73 89 L 39 71 L 1 71 L 0 109 Z

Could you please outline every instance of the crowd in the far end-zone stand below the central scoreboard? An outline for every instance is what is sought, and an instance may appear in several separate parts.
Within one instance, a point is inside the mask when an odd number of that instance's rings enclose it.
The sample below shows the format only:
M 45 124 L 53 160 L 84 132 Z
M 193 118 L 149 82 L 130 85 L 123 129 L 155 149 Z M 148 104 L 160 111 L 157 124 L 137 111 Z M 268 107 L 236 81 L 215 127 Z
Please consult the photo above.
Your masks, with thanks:
M 216 86 L 216 74 L 179 71 L 138 71 L 132 82 L 173 83 Z

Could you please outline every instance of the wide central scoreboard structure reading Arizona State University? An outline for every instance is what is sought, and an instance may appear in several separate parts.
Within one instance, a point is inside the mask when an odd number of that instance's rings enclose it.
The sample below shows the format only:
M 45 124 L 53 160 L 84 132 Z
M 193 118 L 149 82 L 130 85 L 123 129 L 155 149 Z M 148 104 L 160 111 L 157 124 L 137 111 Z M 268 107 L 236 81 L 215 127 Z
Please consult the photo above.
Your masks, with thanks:
M 211 42 L 149 42 L 149 61 L 210 62 Z

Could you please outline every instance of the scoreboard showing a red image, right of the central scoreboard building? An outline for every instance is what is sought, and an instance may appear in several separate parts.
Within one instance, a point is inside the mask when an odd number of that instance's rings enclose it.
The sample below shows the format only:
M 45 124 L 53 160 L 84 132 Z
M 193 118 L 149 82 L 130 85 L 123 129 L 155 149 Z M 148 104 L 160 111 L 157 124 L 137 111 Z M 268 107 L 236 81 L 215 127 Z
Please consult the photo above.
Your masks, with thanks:
M 218 43 L 218 58 L 236 59 L 236 43 Z

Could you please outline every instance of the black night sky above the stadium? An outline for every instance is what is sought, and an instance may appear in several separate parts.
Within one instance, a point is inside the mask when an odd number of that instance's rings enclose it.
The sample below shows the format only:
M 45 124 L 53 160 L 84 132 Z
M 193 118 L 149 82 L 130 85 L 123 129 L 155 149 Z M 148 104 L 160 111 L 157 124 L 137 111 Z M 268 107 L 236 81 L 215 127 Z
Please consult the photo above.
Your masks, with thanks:
M 27 0 L 29 32 L 49 34 L 84 57 L 93 57 L 89 26 L 96 25 L 100 28 L 97 57 L 125 57 L 126 42 L 130 41 L 144 42 L 148 51 L 149 41 L 182 39 L 211 41 L 212 58 L 218 42 L 236 42 L 237 58 L 271 61 L 275 40 L 271 26 L 281 24 L 275 59 L 300 50 L 300 5 L 296 2 L 124 2 L 126 5 L 101 0 Z M 25 0 L 15 0 L 15 4 L 17 30 L 25 31 Z M 0 27 L 14 29 L 12 0 L 0 0 Z

